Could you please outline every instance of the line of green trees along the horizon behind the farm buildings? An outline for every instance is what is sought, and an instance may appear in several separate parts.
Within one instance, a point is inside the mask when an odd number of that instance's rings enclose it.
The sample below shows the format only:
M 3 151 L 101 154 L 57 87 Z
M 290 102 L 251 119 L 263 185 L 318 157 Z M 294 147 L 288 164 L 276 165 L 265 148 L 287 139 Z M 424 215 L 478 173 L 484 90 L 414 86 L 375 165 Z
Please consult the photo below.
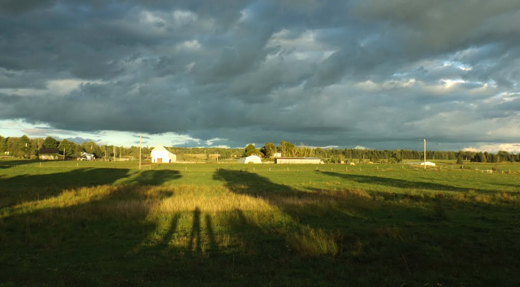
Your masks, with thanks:
M 97 159 L 111 160 L 124 157 L 139 159 L 139 147 L 122 147 L 113 145 L 98 145 L 95 141 L 84 141 L 76 144 L 68 139 L 56 140 L 53 137 L 29 138 L 26 135 L 21 137 L 3 137 L 0 135 L 0 155 L 23 157 L 26 159 L 36 158 L 42 148 L 58 148 L 60 154 L 69 158 L 80 157 L 82 152 L 94 154 Z M 153 147 L 142 147 L 141 158 L 146 159 L 150 156 Z M 183 160 L 188 154 L 206 154 L 210 160 L 210 154 L 218 154 L 219 159 L 230 159 L 240 156 L 258 155 L 265 159 L 272 159 L 275 153 L 288 157 L 319 157 L 326 163 L 357 162 L 369 160 L 372 162 L 401 162 L 402 160 L 421 160 L 424 157 L 423 151 L 417 150 L 369 150 L 369 149 L 323 149 L 310 148 L 304 144 L 295 145 L 288 141 L 280 141 L 278 145 L 266 142 L 261 148 L 256 148 L 253 144 L 244 149 L 227 148 L 183 148 L 166 147 L 170 152 L 177 155 L 177 160 Z M 115 152 L 114 152 L 115 151 Z M 457 160 L 499 163 L 499 162 L 520 162 L 520 153 L 513 154 L 506 151 L 497 153 L 472 152 L 472 151 L 426 151 L 427 160 Z

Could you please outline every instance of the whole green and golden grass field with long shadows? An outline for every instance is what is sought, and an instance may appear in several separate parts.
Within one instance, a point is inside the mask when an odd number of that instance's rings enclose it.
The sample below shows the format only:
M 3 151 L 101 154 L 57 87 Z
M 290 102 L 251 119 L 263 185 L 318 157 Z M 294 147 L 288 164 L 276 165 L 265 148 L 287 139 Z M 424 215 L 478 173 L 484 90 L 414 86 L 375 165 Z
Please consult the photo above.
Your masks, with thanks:
M 0 161 L 0 285 L 520 282 L 519 164 L 136 164 Z

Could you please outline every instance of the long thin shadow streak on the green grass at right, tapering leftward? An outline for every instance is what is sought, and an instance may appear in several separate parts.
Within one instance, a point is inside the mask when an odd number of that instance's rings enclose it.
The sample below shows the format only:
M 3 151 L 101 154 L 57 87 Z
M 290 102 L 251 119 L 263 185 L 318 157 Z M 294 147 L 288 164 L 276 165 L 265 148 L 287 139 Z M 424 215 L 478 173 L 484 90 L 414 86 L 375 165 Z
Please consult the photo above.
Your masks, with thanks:
M 495 190 L 481 190 L 475 188 L 461 188 L 459 186 L 438 184 L 427 181 L 413 181 L 413 180 L 405 180 L 405 179 L 396 179 L 396 178 L 386 178 L 386 177 L 378 177 L 378 176 L 368 176 L 368 175 L 357 175 L 357 174 L 348 174 L 348 173 L 334 173 L 332 171 L 321 171 L 315 170 L 316 173 L 320 173 L 327 176 L 338 177 L 345 180 L 351 180 L 358 183 L 367 183 L 367 184 L 377 184 L 381 186 L 387 186 L 392 188 L 402 188 L 402 189 L 425 189 L 432 191 L 455 191 L 455 192 L 482 192 L 482 193 L 496 193 L 499 191 Z

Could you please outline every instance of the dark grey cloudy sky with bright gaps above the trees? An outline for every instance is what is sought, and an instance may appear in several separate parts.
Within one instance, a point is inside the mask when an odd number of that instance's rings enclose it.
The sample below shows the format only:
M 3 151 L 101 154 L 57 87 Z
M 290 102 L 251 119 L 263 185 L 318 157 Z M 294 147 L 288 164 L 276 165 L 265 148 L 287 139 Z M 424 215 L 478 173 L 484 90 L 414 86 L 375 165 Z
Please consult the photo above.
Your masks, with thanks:
M 518 0 L 3 1 L 0 135 L 520 151 Z

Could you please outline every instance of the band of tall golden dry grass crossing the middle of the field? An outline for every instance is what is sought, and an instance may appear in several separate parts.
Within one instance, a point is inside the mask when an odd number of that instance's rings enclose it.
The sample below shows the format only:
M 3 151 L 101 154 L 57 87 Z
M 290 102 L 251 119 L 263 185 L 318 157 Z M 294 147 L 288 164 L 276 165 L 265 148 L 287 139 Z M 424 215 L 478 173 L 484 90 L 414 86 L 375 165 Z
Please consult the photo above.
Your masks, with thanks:
M 238 186 L 246 188 L 247 186 Z M 350 245 L 338 245 L 337 234 L 320 227 L 312 227 L 302 218 L 319 218 L 324 215 L 342 217 L 363 217 L 363 213 L 384 209 L 386 204 L 400 206 L 430 205 L 438 218 L 447 219 L 445 202 L 473 202 L 486 204 L 518 204 L 520 196 L 514 193 L 485 194 L 476 192 L 430 193 L 422 195 L 371 193 L 361 189 L 337 191 L 316 190 L 283 193 L 264 193 L 262 196 L 235 192 L 237 186 L 178 184 L 161 186 L 140 185 L 99 185 L 76 189 L 64 189 L 56 196 L 30 200 L 0 209 L 0 226 L 9 217 L 25 216 L 27 226 L 59 225 L 60 222 L 82 219 L 146 220 L 153 223 L 151 233 L 137 252 L 146 246 L 164 241 L 174 214 L 180 229 L 189 231 L 197 220 L 194 211 L 199 212 L 198 223 L 201 231 L 202 251 L 211 250 L 211 241 L 218 248 L 229 245 L 248 245 L 247 238 L 237 237 L 240 228 L 256 228 L 263 234 L 277 234 L 285 238 L 289 249 L 302 256 L 335 255 L 346 248 L 348 253 L 358 256 L 363 253 L 366 242 L 357 240 Z M 233 219 L 240 211 L 243 219 Z M 36 213 L 38 216 L 30 216 Z M 184 214 L 184 215 L 182 215 Z M 242 221 L 242 223 L 233 223 Z M 237 221 L 237 222 L 238 222 Z M 209 226 L 211 222 L 214 226 Z M 244 223 L 245 222 L 245 223 Z M 241 226 L 240 224 L 245 224 Z M 234 227 L 233 227 L 234 226 Z M 249 227 L 248 227 L 249 226 Z M 233 229 L 234 228 L 234 229 Z M 238 229 L 237 229 L 238 228 Z M 212 240 L 208 231 L 214 234 Z M 34 231 L 33 231 L 34 232 Z M 28 232 L 30 234 L 30 232 Z M 382 237 L 402 240 L 399 229 L 381 228 L 377 234 Z M 53 240 L 58 240 L 53 237 Z M 173 246 L 193 245 L 189 233 L 167 239 Z M 171 242 L 170 242 L 171 241 Z M 341 240 L 340 240 L 341 241 Z M 240 243 L 242 242 L 242 243 Z

